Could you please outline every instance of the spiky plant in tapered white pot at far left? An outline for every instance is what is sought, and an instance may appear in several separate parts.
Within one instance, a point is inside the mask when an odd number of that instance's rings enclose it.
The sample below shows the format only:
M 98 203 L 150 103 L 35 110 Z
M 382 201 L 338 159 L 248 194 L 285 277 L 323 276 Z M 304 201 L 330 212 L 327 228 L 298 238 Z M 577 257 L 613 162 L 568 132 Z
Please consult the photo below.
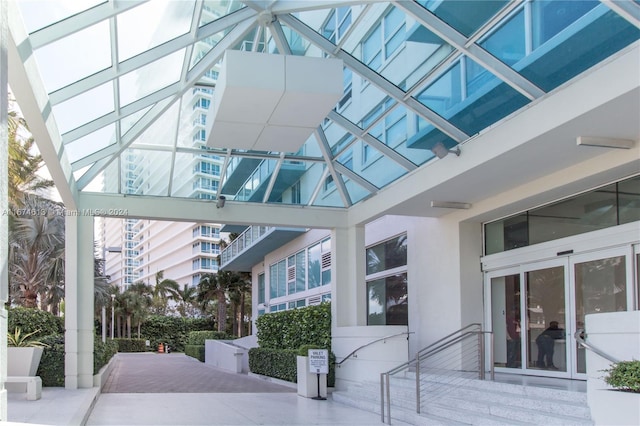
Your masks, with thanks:
M 23 334 L 20 328 L 7 334 L 7 375 L 8 376 L 35 376 L 40 365 L 42 351 L 48 345 L 34 340 L 33 335 L 39 333 L 36 330 Z

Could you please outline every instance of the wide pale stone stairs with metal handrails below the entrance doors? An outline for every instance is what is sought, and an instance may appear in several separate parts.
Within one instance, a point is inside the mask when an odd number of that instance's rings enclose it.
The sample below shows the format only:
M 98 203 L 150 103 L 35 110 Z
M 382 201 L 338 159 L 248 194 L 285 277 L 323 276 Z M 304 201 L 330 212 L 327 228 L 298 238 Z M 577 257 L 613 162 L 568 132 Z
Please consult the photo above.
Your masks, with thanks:
M 475 378 L 423 376 L 421 413 L 416 413 L 415 376 L 391 379 L 393 424 L 593 425 L 582 392 L 522 386 Z M 334 391 L 345 405 L 380 413 L 380 383 L 350 384 Z M 386 413 L 385 413 L 386 421 Z

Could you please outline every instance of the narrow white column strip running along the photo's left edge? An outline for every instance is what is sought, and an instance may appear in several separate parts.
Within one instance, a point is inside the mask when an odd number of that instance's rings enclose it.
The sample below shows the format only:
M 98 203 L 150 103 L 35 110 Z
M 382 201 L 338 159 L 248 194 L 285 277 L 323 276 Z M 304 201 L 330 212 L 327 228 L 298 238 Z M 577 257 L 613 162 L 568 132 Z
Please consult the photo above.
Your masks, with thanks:
M 7 421 L 7 310 L 4 304 L 9 296 L 9 201 L 8 201 L 8 128 L 7 111 L 7 39 L 9 20 L 7 2 L 0 1 L 0 422 Z

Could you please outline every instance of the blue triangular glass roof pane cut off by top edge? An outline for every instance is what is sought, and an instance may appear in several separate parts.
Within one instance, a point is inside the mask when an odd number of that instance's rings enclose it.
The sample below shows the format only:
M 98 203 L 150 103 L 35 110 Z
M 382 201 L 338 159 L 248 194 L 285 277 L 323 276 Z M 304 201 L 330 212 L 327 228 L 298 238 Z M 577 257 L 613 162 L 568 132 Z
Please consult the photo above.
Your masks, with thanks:
M 505 6 L 508 0 L 422 0 L 418 3 L 469 37 Z

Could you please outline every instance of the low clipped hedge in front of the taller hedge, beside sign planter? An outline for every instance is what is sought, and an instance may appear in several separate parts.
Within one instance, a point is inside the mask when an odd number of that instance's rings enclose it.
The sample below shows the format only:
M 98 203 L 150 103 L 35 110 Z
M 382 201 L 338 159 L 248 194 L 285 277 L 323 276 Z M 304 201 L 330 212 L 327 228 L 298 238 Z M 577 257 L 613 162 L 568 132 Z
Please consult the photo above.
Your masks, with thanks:
M 252 348 L 249 349 L 249 370 L 263 376 L 297 383 L 297 355 L 298 351 L 292 349 Z

